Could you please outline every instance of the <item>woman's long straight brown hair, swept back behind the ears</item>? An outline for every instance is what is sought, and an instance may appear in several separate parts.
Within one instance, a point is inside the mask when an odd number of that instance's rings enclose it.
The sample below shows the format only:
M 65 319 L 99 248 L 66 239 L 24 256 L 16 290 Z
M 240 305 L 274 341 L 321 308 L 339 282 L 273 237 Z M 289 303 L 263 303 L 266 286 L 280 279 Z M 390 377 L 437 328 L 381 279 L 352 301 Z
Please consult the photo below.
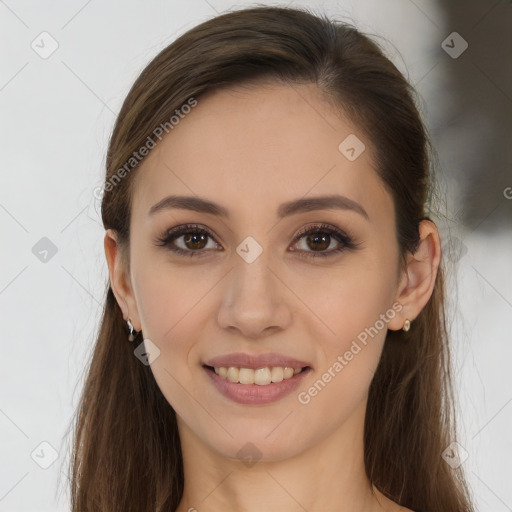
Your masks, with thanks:
M 157 144 L 155 129 L 163 125 L 170 131 L 169 119 L 191 98 L 200 103 L 207 91 L 260 79 L 316 84 L 366 133 L 378 175 L 394 200 L 403 264 L 406 252 L 417 247 L 419 222 L 429 218 L 433 190 L 431 146 L 415 91 L 380 47 L 352 25 L 306 9 L 252 7 L 206 21 L 164 48 L 124 101 L 108 148 L 101 212 L 105 229 L 118 235 L 127 266 L 138 169 L 126 162 L 149 142 Z M 471 512 L 462 468 L 452 469 L 442 458 L 455 440 L 443 273 L 442 264 L 411 330 L 387 334 L 369 390 L 364 461 L 370 482 L 403 506 Z M 107 284 L 74 419 L 75 512 L 175 511 L 182 497 L 174 410 L 126 340 Z

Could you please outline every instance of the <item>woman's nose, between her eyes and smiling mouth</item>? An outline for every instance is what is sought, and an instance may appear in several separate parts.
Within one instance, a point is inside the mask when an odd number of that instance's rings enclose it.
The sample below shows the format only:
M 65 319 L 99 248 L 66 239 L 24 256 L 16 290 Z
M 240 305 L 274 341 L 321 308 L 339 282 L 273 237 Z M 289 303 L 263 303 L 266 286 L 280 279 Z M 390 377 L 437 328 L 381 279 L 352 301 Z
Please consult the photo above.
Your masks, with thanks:
M 225 280 L 218 311 L 220 327 L 248 339 L 286 329 L 292 314 L 291 292 L 284 281 L 269 266 L 265 251 L 252 263 L 240 258 Z

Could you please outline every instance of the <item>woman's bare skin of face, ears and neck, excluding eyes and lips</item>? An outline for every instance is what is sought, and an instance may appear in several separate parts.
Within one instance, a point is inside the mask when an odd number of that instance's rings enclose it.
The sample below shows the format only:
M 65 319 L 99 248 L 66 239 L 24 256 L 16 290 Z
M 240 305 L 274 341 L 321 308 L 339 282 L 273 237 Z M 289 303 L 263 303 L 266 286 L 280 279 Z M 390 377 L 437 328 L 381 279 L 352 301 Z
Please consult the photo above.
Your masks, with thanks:
M 349 161 L 349 134 L 366 150 Z M 428 302 L 441 257 L 435 225 L 423 221 L 417 252 L 398 268 L 394 205 L 373 169 L 370 141 L 337 115 L 314 85 L 266 84 L 215 91 L 151 151 L 134 177 L 130 268 L 115 233 L 105 235 L 112 288 L 125 319 L 160 350 L 155 379 L 177 413 L 185 468 L 179 512 L 408 510 L 372 489 L 363 464 L 368 389 L 387 329 L 414 321 Z M 285 201 L 332 193 L 360 203 L 276 217 Z M 148 210 L 169 194 L 200 196 L 230 219 L 187 210 Z M 158 246 L 172 227 L 195 223 L 215 239 L 202 256 Z M 350 233 L 356 250 L 304 258 L 339 246 L 295 241 L 305 226 Z M 247 263 L 237 246 L 252 236 L 262 254 Z M 184 237 L 175 240 L 179 247 Z M 312 397 L 298 401 L 380 314 L 400 304 L 378 335 Z M 265 405 L 222 396 L 202 368 L 230 352 L 278 352 L 311 363 L 297 392 Z M 257 462 L 237 453 L 252 443 Z M 257 450 L 257 454 L 256 454 Z M 335 478 L 333 477 L 335 475 Z

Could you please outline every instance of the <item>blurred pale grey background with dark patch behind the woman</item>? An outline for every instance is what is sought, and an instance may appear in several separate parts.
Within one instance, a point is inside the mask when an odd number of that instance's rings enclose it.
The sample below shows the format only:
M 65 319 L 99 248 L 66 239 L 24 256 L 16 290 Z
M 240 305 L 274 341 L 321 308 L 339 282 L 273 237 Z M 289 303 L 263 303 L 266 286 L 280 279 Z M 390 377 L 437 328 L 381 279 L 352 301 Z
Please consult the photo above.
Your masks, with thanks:
M 160 49 L 249 5 L 0 0 L 0 511 L 69 510 L 67 432 L 108 276 L 93 191 L 115 115 Z M 512 3 L 288 5 L 373 34 L 418 90 L 438 153 L 461 461 L 479 510 L 512 511 Z

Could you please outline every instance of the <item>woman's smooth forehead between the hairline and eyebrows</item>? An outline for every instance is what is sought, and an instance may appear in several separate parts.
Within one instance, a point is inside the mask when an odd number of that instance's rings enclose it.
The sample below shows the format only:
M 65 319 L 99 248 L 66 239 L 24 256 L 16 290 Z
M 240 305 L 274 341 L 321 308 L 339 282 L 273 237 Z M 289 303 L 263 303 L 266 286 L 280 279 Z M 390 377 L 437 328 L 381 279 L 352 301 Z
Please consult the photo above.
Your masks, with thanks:
M 333 193 L 363 204 L 370 218 L 392 210 L 370 141 L 315 85 L 222 89 L 197 102 L 141 164 L 134 216 L 147 216 L 168 194 L 210 198 L 235 214 L 269 219 L 282 202 Z M 350 160 L 339 146 L 354 136 L 364 150 Z

